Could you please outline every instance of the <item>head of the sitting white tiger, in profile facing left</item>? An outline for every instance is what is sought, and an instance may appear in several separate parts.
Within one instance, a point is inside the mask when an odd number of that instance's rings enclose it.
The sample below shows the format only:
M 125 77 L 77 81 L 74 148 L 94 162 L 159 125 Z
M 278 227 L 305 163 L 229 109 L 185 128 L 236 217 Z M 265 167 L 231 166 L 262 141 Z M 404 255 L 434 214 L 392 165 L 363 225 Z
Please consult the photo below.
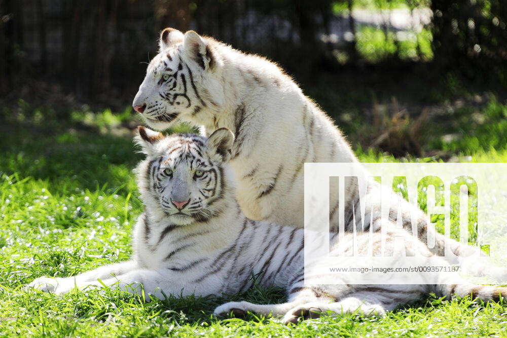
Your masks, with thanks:
M 217 44 L 193 30 L 161 32 L 159 54 L 148 65 L 132 102 L 150 127 L 163 130 L 174 122 L 191 122 L 201 109 L 221 105 L 222 60 Z

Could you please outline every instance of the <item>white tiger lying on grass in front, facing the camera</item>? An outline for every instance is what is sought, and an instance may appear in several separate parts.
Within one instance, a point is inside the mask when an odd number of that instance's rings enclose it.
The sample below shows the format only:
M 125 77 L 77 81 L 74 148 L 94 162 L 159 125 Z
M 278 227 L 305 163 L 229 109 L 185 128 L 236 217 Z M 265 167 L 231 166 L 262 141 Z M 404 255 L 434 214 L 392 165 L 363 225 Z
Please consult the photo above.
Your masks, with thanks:
M 146 160 L 138 169 L 138 186 L 146 206 L 134 232 L 132 260 L 107 265 L 68 278 L 42 277 L 30 285 L 45 291 L 65 293 L 89 285 L 119 287 L 131 292 L 163 294 L 221 295 L 245 290 L 252 274 L 262 285 L 285 288 L 287 303 L 257 305 L 231 302 L 215 309 L 215 314 L 243 315 L 252 311 L 284 316 L 285 322 L 300 317 L 315 318 L 321 312 L 338 314 L 357 311 L 365 316 L 392 310 L 429 292 L 449 296 L 472 293 L 484 301 L 507 296 L 507 288 L 472 284 L 445 285 L 439 275 L 437 285 L 357 285 L 357 280 L 334 274 L 343 285 L 319 285 L 322 276 L 303 273 L 303 229 L 248 219 L 235 199 L 235 186 L 227 161 L 234 136 L 227 129 L 216 130 L 209 139 L 197 135 L 171 135 L 139 127 L 139 143 Z M 405 233 L 389 231 L 386 241 Z M 406 234 L 406 233 L 405 233 Z M 332 255 L 350 252 L 352 240 L 345 235 L 337 242 L 332 234 Z M 359 248 L 368 234 L 358 236 Z M 380 232 L 373 234 L 380 243 Z M 375 247 L 375 245 L 374 245 Z M 437 263 L 417 239 L 405 242 L 407 250 L 420 250 L 418 264 Z M 402 248 L 392 249 L 400 254 Z M 100 281 L 98 281 L 100 279 Z M 356 285 L 354 285 L 356 284 Z

